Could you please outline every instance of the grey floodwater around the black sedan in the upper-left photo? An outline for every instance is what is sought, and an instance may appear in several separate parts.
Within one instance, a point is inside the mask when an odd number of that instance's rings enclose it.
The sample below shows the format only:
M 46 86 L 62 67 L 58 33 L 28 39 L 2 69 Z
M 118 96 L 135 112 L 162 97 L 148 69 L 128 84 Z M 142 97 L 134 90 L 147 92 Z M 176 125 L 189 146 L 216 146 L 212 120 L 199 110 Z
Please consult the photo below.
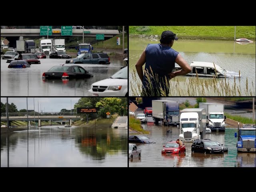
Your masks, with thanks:
M 1 96 L 91 96 L 91 84 L 106 78 L 124 66 L 123 59 L 110 58 L 110 64 L 77 64 L 94 77 L 68 80 L 42 80 L 42 74 L 52 66 L 64 64 L 66 59 L 40 59 L 41 64 L 30 68 L 8 68 L 9 63 L 1 59 Z

